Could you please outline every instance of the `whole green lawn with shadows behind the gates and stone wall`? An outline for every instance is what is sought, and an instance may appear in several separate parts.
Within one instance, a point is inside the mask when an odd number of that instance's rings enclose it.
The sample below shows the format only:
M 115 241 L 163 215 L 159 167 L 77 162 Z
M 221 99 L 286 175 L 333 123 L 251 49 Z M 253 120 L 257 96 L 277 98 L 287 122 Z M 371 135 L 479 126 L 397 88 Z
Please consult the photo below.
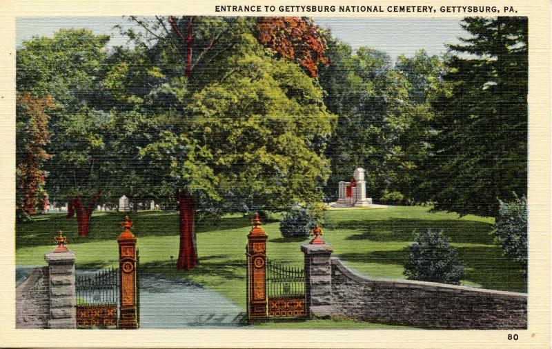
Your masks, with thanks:
M 58 230 L 68 236 L 77 255 L 77 268 L 101 268 L 117 264 L 116 239 L 121 232 L 121 213 L 95 213 L 90 220 L 90 237 L 77 237 L 75 219 L 64 215 L 38 215 L 16 227 L 18 265 L 44 264 L 43 255 L 54 248 Z M 228 215 L 197 223 L 199 266 L 190 272 L 175 270 L 178 256 L 177 212 L 134 212 L 134 234 L 138 237 L 141 270 L 185 277 L 217 290 L 245 308 L 245 246 L 250 219 Z M 328 210 L 323 238 L 348 266 L 374 277 L 402 278 L 408 256 L 407 246 L 415 230 L 443 229 L 466 268 L 462 283 L 495 290 L 526 292 L 520 267 L 502 257 L 491 236 L 493 219 L 477 216 L 459 218 L 448 213 L 430 213 L 424 207 L 395 207 L 369 210 Z M 293 266 L 303 266 L 302 240 L 288 240 L 279 233 L 279 223 L 264 226 L 268 234 L 268 258 Z M 174 256 L 171 263 L 170 256 Z M 310 321 L 308 322 L 310 323 Z M 339 321 L 331 321 L 339 325 Z M 344 321 L 343 326 L 370 326 Z M 295 327 L 292 323 L 261 326 Z M 328 325 L 329 326 L 329 325 Z M 375 326 L 375 325 L 374 325 Z M 308 326 L 307 326 L 308 327 Z

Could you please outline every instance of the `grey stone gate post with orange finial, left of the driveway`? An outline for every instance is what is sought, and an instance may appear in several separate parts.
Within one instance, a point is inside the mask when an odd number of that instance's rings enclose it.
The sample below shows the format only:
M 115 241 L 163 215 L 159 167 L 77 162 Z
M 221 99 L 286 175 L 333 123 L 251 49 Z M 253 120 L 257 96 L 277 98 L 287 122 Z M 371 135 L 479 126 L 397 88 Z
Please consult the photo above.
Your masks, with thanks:
M 54 239 L 57 248 L 44 255 L 50 279 L 50 319 L 48 328 L 77 328 L 77 299 L 75 298 L 75 253 L 64 243 L 60 231 Z

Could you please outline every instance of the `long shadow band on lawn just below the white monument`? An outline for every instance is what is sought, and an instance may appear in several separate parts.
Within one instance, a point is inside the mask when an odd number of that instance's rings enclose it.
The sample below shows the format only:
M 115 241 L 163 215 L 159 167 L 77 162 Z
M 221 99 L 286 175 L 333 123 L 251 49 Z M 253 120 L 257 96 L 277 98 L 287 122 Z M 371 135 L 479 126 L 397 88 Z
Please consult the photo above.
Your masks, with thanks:
M 413 241 L 415 234 L 424 229 L 443 230 L 452 242 L 493 243 L 491 223 L 460 219 L 406 219 L 344 221 L 336 229 L 359 230 L 361 233 L 346 237 L 347 240 Z

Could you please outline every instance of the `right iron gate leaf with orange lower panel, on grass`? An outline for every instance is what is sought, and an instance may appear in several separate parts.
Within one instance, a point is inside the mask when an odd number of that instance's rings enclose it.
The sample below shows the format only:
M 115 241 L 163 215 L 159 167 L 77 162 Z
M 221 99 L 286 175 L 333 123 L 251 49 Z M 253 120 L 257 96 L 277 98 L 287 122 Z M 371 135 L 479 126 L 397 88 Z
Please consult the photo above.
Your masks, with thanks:
M 268 260 L 266 295 L 269 317 L 306 316 L 304 270 Z

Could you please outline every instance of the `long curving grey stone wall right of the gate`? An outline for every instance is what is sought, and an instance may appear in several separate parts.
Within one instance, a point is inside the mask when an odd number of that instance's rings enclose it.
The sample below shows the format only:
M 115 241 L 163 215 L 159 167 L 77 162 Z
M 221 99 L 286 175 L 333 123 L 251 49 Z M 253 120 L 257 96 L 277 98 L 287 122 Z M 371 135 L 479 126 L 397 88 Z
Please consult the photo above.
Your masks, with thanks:
M 331 257 L 333 316 L 444 329 L 526 329 L 527 295 L 364 277 Z

